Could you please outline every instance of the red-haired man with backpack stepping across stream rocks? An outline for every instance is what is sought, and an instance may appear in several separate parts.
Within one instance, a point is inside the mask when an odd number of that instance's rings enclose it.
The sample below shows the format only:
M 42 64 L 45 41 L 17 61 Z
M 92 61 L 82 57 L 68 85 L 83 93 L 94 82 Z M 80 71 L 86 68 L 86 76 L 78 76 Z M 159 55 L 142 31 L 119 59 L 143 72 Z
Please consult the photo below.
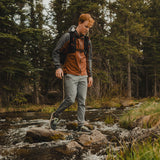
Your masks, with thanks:
M 93 26 L 94 20 L 90 14 L 81 14 L 78 26 L 71 26 L 58 41 L 53 51 L 53 61 L 56 67 L 56 77 L 64 76 L 65 99 L 59 108 L 52 113 L 50 127 L 55 130 L 59 115 L 75 102 L 77 97 L 78 131 L 87 131 L 85 121 L 85 100 L 87 86 L 93 84 L 92 78 L 92 45 L 86 36 Z

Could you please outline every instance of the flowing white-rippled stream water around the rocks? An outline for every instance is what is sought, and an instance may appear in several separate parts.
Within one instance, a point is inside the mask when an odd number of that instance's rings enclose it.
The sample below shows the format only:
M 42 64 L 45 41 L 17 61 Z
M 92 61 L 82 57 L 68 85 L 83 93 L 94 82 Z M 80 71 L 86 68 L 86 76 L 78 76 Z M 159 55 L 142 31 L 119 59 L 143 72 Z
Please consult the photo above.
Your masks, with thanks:
M 0 114 L 0 160 L 105 160 L 107 149 L 115 151 L 121 148 L 119 137 L 125 138 L 129 131 L 118 125 L 119 116 L 129 108 L 87 109 L 86 119 L 95 129 L 106 135 L 106 147 L 84 150 L 79 155 L 65 156 L 54 150 L 68 143 L 68 140 L 28 143 L 25 141 L 27 130 L 33 127 L 48 128 L 50 114 L 41 112 Z M 62 115 L 57 130 L 66 131 L 66 121 L 74 121 L 76 112 L 66 111 Z M 112 124 L 107 124 L 107 122 Z

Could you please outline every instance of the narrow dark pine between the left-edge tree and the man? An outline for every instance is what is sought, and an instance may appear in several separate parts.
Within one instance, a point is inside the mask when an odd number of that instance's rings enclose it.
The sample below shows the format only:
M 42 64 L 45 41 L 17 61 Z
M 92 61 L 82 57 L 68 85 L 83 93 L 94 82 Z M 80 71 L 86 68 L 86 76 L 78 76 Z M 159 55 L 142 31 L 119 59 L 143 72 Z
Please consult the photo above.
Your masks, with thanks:
M 30 58 L 30 63 L 32 64 L 31 72 L 31 82 L 34 89 L 33 101 L 35 104 L 40 103 L 40 79 L 41 72 L 43 71 L 43 61 L 45 59 L 46 43 L 44 42 L 44 30 L 43 30 L 43 5 L 42 1 L 31 0 L 29 2 L 30 14 L 29 14 L 29 28 L 26 28 L 21 32 L 21 37 L 24 43 L 24 49 L 28 57 Z

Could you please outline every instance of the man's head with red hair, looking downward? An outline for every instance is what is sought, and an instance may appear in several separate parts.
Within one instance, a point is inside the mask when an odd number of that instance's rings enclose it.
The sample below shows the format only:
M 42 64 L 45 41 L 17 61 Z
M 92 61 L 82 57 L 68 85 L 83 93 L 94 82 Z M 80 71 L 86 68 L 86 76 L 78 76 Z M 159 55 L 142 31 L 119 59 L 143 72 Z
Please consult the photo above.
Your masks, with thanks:
M 78 20 L 77 32 L 86 35 L 93 24 L 94 19 L 90 14 L 81 14 Z

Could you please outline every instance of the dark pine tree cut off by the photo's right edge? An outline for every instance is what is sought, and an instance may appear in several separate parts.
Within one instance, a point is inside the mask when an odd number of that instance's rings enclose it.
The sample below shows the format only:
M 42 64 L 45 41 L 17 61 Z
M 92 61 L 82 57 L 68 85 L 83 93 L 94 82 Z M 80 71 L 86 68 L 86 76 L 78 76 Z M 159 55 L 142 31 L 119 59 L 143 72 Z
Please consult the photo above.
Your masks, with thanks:
M 144 67 L 146 72 L 146 96 L 158 96 L 160 89 L 160 2 L 149 1 L 145 15 L 150 36 L 144 43 Z M 145 81 L 145 80 L 144 80 Z M 148 92 L 150 90 L 150 93 Z

